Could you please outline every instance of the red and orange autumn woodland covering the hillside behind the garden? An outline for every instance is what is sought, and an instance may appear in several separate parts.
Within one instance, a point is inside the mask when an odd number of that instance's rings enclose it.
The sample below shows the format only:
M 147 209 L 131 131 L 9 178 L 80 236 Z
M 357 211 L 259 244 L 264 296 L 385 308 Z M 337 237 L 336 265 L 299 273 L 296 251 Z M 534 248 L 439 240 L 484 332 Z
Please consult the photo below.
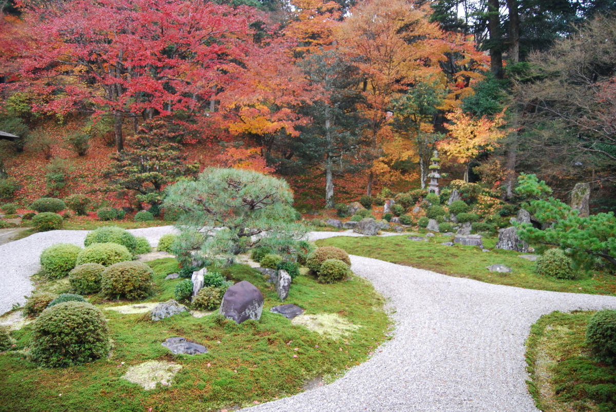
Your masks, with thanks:
M 0 1 L 0 196 L 140 209 L 208 166 L 301 211 L 520 172 L 616 209 L 609 0 Z M 42 184 L 45 182 L 45 184 Z M 384 192 L 383 192 L 384 190 Z

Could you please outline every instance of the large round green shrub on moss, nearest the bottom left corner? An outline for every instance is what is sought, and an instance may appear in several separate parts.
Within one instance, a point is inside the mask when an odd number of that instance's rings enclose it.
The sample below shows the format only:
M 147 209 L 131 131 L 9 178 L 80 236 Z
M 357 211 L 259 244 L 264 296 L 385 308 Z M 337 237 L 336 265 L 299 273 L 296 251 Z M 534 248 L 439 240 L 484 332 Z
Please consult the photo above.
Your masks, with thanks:
M 32 328 L 30 359 L 57 368 L 81 365 L 109 352 L 103 313 L 87 302 L 64 302 L 44 310 Z

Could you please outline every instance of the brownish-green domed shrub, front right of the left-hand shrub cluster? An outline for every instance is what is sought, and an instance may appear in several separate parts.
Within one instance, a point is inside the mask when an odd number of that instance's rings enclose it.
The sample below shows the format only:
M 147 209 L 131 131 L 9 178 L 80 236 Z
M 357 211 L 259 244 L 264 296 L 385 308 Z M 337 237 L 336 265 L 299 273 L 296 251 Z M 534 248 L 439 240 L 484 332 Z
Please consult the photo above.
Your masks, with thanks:
M 140 299 L 150 293 L 153 275 L 143 262 L 116 263 L 103 271 L 100 291 L 110 299 Z

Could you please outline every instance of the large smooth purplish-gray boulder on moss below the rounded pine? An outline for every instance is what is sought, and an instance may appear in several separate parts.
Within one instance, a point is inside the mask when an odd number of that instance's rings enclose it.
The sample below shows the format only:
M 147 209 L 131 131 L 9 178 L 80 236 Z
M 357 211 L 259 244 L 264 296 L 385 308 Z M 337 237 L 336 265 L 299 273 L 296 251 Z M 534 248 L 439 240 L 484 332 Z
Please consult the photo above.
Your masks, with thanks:
M 221 315 L 238 324 L 248 319 L 259 320 L 261 312 L 263 312 L 263 294 L 246 280 L 227 289 L 219 309 Z

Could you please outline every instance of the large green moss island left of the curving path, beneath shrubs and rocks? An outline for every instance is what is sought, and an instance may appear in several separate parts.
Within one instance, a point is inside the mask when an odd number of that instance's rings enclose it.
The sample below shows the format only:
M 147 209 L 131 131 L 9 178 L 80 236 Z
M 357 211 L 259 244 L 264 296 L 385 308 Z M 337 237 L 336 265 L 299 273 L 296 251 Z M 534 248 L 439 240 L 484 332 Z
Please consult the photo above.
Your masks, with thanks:
M 155 270 L 156 296 L 170 299 L 181 280 L 165 280 L 177 272 L 174 259 L 149 262 Z M 215 270 L 211 268 L 212 270 Z M 39 369 L 23 352 L 0 355 L 0 411 L 217 411 L 274 400 L 302 391 L 307 381 L 333 377 L 365 361 L 386 339 L 389 319 L 383 299 L 365 280 L 353 277 L 336 285 L 320 285 L 301 275 L 293 281 L 285 303 L 307 314 L 337 313 L 361 327 L 338 341 L 291 324 L 269 309 L 280 301 L 274 287 L 246 265 L 221 270 L 234 281 L 248 280 L 265 297 L 260 321 L 241 325 L 217 315 L 195 318 L 175 315 L 158 322 L 143 314 L 103 310 L 109 319 L 111 357 L 88 365 L 59 370 Z M 55 290 L 68 288 L 60 284 Z M 41 288 L 43 289 L 43 288 Z M 47 289 L 51 289 L 47 287 Z M 129 302 L 90 301 L 101 309 Z M 14 332 L 17 349 L 26 350 L 31 326 Z M 203 355 L 174 355 L 161 346 L 166 338 L 184 336 L 205 345 Z M 182 370 L 171 387 L 144 390 L 121 377 L 129 366 L 148 360 L 176 362 Z M 152 409 L 150 409 L 152 408 Z

